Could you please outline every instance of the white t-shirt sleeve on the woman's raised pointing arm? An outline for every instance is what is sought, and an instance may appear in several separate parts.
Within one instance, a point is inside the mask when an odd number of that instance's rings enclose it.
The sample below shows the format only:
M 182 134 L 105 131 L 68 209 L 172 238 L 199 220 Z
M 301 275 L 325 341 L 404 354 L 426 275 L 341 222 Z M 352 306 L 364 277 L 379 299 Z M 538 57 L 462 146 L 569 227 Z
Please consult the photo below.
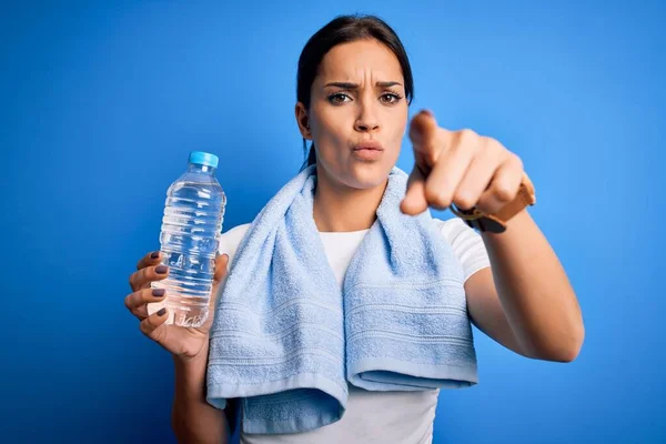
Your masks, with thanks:
M 463 266 L 465 281 L 480 270 L 491 266 L 491 259 L 481 234 L 458 218 L 441 221 L 435 219 L 444 239 Z

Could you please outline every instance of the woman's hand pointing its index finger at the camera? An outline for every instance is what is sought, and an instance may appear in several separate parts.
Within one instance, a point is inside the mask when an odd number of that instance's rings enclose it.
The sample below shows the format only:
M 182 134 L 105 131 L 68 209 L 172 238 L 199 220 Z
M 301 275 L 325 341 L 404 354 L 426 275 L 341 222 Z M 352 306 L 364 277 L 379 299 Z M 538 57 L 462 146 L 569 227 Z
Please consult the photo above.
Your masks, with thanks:
M 415 215 L 428 206 L 445 210 L 453 203 L 493 214 L 516 196 L 523 162 L 495 139 L 445 130 L 428 111 L 412 119 L 410 139 L 415 163 L 403 213 Z

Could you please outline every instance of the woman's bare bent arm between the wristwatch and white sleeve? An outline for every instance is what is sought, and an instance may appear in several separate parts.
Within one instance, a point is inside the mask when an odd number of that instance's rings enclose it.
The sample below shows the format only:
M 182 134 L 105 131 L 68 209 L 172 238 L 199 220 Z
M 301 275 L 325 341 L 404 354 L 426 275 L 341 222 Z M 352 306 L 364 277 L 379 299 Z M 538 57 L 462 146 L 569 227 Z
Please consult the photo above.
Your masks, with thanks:
M 568 278 L 527 211 L 505 232 L 482 233 L 491 268 L 465 283 L 475 325 L 495 341 L 528 357 L 571 362 L 585 329 Z

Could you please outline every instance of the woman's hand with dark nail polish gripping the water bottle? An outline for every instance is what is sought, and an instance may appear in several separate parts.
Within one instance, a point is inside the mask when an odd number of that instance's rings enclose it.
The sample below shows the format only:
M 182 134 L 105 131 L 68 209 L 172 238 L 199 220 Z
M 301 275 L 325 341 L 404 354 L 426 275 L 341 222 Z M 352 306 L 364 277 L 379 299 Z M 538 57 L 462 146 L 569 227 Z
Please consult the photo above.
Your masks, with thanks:
M 182 327 L 167 325 L 169 317 L 167 307 L 148 315 L 148 304 L 161 302 L 164 299 L 162 289 L 151 289 L 150 284 L 169 276 L 169 268 L 160 264 L 162 253 L 152 252 L 143 256 L 137 264 L 137 271 L 130 275 L 132 293 L 124 300 L 128 310 L 139 319 L 139 327 L 151 340 L 155 341 L 174 356 L 183 361 L 190 361 L 200 355 L 202 351 L 208 353 L 209 331 L 213 324 L 215 297 L 220 284 L 226 278 L 229 256 L 222 254 L 215 258 L 215 274 L 213 278 L 213 290 L 209 305 L 209 316 L 200 327 Z

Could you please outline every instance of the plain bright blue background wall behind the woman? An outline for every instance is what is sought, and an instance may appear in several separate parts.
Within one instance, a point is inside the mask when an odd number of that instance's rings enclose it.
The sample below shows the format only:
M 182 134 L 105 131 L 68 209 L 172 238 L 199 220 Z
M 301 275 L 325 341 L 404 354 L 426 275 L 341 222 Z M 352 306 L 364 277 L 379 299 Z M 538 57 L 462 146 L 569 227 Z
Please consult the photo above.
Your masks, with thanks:
M 221 158 L 224 231 L 295 174 L 297 57 L 355 11 L 403 39 L 412 112 L 523 158 L 586 322 L 571 364 L 475 331 L 481 384 L 441 394 L 435 443 L 666 440 L 658 2 L 14 3 L 0 9 L 0 441 L 173 441 L 171 359 L 125 311 L 128 276 L 159 246 L 191 150 Z M 398 167 L 412 160 L 405 140 Z

